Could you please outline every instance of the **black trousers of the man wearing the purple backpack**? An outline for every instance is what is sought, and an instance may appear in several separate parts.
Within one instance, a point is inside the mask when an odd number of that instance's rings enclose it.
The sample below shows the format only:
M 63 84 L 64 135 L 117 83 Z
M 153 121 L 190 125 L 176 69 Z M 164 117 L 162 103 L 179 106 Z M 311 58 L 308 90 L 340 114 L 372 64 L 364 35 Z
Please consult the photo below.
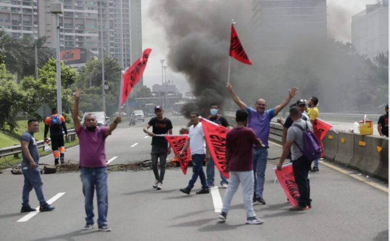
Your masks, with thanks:
M 310 199 L 310 181 L 307 178 L 311 167 L 311 161 L 308 161 L 306 157 L 301 156 L 297 160 L 293 161 L 293 171 L 295 182 L 298 185 L 299 199 L 298 204 L 302 207 L 311 205 Z

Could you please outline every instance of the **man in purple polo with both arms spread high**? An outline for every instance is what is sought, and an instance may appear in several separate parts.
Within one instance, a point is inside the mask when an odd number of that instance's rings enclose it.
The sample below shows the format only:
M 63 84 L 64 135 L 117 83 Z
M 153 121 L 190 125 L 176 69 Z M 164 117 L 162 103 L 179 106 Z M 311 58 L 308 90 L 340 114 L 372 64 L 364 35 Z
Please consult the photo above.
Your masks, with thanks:
M 268 148 L 268 136 L 270 134 L 270 122 L 285 106 L 288 102 L 298 93 L 298 89 L 294 87 L 288 90 L 288 97 L 285 98 L 279 106 L 268 109 L 265 99 L 258 98 L 255 103 L 256 110 L 248 107 L 233 91 L 231 84 L 226 84 L 226 89 L 232 96 L 232 99 L 236 104 L 248 112 L 249 123 L 248 127 L 252 128 L 257 137 Z M 253 172 L 254 172 L 254 204 L 266 204 L 263 198 L 265 173 L 268 159 L 268 149 L 253 149 Z

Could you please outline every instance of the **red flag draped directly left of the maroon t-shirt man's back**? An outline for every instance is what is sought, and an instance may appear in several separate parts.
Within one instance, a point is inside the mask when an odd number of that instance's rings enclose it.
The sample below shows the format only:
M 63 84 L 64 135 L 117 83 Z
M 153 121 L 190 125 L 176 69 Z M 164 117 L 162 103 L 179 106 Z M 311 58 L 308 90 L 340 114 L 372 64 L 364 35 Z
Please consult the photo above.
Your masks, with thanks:
M 229 129 L 215 124 L 209 120 L 201 118 L 203 132 L 210 155 L 213 158 L 214 164 L 220 173 L 226 179 L 229 178 L 229 171 L 226 170 L 226 134 Z

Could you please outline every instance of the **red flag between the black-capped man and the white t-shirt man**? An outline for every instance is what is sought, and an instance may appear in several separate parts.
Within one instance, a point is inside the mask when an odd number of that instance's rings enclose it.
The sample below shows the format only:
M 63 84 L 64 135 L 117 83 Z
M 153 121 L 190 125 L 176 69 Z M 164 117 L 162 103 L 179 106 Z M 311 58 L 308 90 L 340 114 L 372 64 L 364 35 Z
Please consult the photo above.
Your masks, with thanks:
M 185 142 L 188 140 L 188 135 L 164 135 L 165 139 L 169 142 L 173 149 L 173 153 L 177 160 L 180 163 L 180 168 L 183 171 L 183 174 L 187 174 L 188 161 L 191 157 L 191 151 L 189 148 L 183 153 L 182 157 L 178 157 L 180 151 L 183 149 Z

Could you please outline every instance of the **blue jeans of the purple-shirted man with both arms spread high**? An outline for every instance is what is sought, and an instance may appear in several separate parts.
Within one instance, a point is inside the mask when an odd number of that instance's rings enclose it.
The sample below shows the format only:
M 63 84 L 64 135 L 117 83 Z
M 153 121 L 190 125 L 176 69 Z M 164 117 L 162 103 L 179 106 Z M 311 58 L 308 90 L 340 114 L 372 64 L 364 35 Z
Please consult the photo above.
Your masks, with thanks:
M 253 149 L 254 192 L 256 197 L 263 197 L 268 149 Z

